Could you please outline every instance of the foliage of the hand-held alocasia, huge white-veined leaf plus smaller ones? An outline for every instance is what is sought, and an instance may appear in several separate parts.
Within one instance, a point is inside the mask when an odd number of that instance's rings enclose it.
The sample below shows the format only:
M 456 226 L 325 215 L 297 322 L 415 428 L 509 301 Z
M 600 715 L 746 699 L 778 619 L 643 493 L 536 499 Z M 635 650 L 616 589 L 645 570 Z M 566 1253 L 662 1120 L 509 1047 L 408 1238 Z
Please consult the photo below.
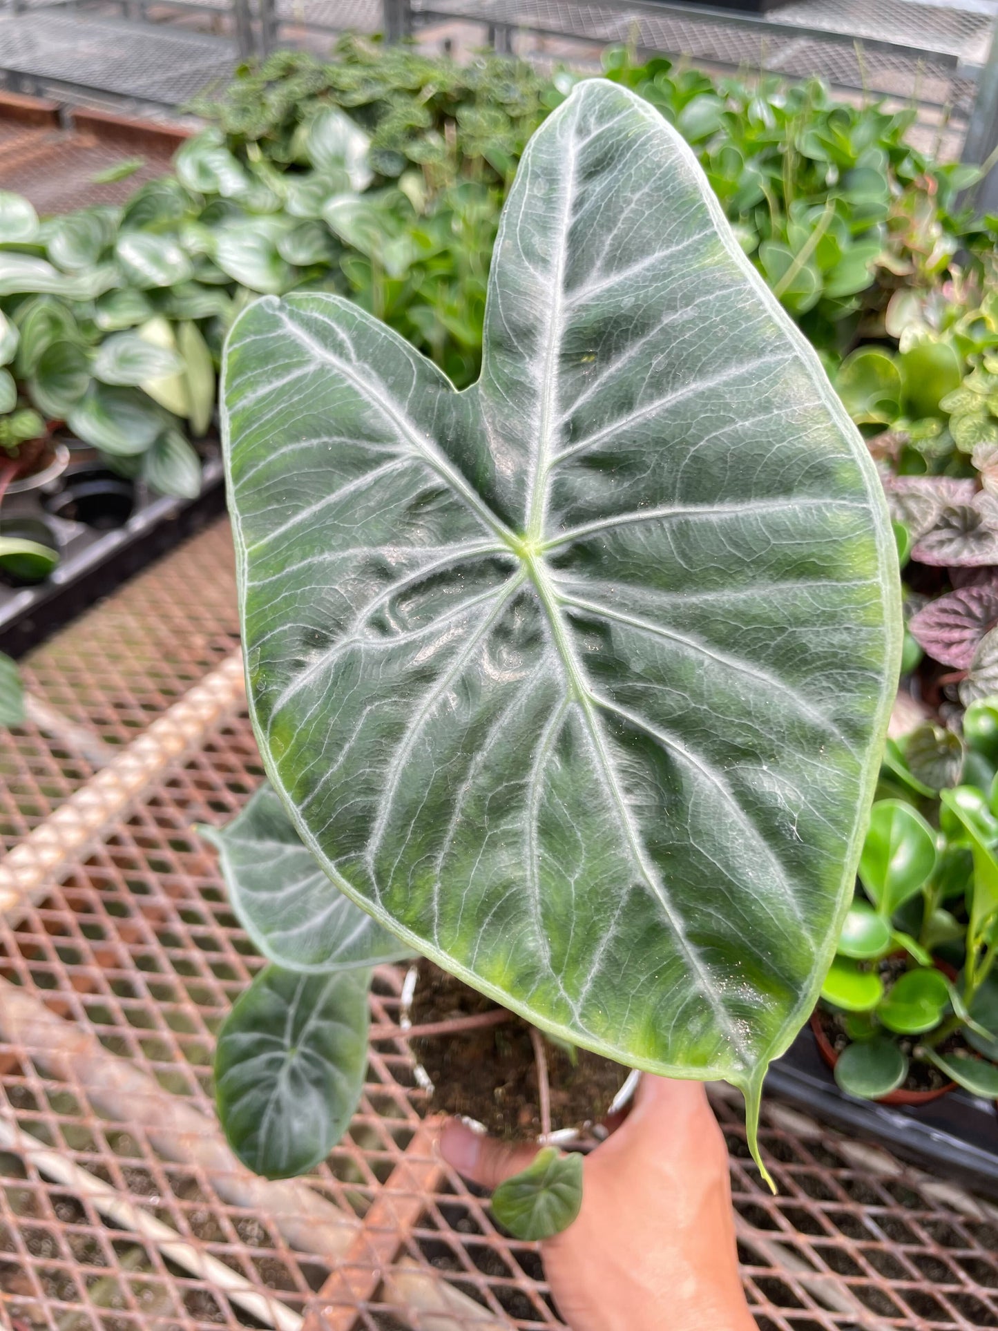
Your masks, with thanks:
M 273 792 L 220 843 L 281 962 L 220 1038 L 236 1149 L 329 1150 L 363 1074 L 345 968 L 416 950 L 560 1041 L 740 1086 L 756 1150 L 852 896 L 898 578 L 689 148 L 582 84 L 507 200 L 475 385 L 298 293 L 237 319 L 222 409 Z

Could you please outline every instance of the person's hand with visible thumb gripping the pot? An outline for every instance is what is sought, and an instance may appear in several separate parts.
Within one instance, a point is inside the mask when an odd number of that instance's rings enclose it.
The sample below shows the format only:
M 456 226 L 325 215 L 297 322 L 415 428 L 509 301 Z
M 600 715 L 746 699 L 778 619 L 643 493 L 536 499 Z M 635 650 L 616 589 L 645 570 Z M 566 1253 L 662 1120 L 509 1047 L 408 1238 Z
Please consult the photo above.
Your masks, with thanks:
M 448 1119 L 440 1154 L 495 1189 L 536 1147 Z M 572 1331 L 756 1331 L 739 1279 L 728 1151 L 701 1082 L 641 1078 L 623 1126 L 585 1158 L 578 1219 L 542 1255 Z

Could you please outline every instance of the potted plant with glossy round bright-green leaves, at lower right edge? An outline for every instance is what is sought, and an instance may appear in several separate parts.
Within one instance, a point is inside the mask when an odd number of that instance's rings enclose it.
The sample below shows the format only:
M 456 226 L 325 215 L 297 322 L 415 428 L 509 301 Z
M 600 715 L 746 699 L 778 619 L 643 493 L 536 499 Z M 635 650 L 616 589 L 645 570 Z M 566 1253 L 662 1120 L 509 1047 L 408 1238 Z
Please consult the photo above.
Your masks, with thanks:
M 812 1018 L 837 1083 L 864 1099 L 919 1105 L 955 1085 L 998 1098 L 998 699 L 973 703 L 963 729 L 926 721 L 889 745 L 862 890 Z

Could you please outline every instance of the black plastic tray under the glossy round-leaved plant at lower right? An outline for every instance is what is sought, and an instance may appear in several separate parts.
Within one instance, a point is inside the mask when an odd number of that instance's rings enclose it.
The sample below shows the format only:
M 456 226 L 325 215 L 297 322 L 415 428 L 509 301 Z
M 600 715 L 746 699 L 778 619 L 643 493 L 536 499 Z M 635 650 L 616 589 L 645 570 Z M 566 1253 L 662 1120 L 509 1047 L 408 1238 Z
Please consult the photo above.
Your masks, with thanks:
M 766 1091 L 833 1127 L 998 1198 L 998 1114 L 993 1101 L 954 1090 L 929 1105 L 876 1105 L 841 1091 L 808 1026 L 769 1070 Z

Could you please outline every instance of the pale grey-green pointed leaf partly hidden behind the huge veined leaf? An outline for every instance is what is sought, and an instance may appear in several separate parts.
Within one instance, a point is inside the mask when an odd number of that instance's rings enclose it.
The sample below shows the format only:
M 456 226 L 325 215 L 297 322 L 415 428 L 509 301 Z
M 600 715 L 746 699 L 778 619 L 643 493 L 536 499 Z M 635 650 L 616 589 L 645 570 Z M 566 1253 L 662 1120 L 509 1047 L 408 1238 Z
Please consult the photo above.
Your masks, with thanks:
M 218 847 L 232 908 L 255 946 L 293 970 L 399 961 L 413 949 L 337 892 L 263 784 L 228 827 L 198 829 Z

